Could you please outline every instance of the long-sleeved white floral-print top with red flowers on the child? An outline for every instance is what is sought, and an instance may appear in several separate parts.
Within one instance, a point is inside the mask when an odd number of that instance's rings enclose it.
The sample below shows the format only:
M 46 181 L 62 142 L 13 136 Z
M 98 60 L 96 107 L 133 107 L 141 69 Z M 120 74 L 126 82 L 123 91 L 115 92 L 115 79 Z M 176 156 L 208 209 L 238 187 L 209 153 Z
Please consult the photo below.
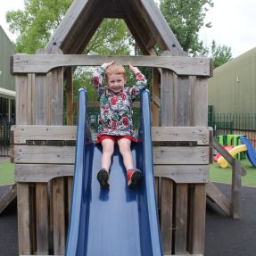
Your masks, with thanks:
M 93 77 L 100 99 L 98 136 L 134 136 L 132 103 L 146 86 L 145 76 L 141 72 L 136 73 L 136 85 L 124 87 L 119 93 L 109 90 L 104 78 L 105 69 L 101 66 L 95 70 Z

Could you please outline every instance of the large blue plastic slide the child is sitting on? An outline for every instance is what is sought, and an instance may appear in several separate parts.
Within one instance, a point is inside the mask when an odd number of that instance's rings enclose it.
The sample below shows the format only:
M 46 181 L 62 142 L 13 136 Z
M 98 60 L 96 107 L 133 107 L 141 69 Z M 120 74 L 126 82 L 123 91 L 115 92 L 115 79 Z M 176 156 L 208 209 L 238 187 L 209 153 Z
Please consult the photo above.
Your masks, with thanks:
M 132 145 L 141 186 L 128 188 L 119 149 L 111 163 L 110 189 L 96 179 L 102 156 L 87 129 L 87 92 L 79 90 L 78 134 L 66 256 L 162 256 L 153 181 L 150 98 L 141 93 L 142 125 Z

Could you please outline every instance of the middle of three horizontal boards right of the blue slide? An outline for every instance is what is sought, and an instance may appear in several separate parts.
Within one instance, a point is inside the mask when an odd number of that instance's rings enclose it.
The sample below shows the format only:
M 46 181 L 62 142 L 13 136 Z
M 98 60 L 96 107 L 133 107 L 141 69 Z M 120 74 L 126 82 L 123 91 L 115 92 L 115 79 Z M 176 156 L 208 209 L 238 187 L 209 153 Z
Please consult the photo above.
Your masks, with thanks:
M 15 152 L 15 147 L 14 147 Z M 208 164 L 208 146 L 156 146 L 153 147 L 154 164 Z

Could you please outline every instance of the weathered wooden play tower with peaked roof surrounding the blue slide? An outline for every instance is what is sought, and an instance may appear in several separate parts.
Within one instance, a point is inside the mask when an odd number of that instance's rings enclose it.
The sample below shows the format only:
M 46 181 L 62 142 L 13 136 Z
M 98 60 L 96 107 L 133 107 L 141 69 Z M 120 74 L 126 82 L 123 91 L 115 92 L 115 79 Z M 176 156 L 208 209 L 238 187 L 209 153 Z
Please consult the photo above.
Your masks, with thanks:
M 143 56 L 82 54 L 104 18 L 124 19 Z M 153 46 L 160 45 L 157 56 Z M 165 255 L 203 254 L 211 60 L 188 57 L 153 0 L 75 0 L 44 50 L 15 54 L 12 128 L 20 255 L 63 255 L 76 127 L 72 73 L 114 60 L 153 68 L 153 162 Z M 63 126 L 66 87 L 68 125 Z

